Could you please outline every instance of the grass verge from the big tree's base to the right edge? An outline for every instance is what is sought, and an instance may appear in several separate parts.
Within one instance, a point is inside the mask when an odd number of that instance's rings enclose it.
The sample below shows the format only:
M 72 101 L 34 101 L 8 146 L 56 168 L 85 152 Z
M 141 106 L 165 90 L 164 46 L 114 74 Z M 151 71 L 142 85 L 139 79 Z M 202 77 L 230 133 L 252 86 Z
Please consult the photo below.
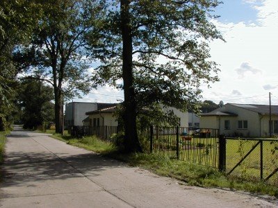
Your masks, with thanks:
M 278 188 L 276 186 L 252 181 L 248 178 L 243 180 L 243 178 L 227 176 L 218 172 L 215 168 L 172 159 L 165 153 L 121 155 L 113 152 L 109 155 L 127 162 L 131 166 L 140 166 L 158 175 L 174 177 L 192 186 L 220 187 L 278 197 Z

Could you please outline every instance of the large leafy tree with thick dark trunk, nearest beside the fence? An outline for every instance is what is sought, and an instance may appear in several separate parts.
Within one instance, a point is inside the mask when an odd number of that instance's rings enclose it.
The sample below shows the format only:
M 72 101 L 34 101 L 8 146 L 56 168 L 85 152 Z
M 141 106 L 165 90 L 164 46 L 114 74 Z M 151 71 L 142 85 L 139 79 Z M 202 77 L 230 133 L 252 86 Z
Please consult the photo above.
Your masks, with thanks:
M 126 152 L 140 151 L 136 115 L 154 103 L 197 110 L 201 83 L 218 80 L 208 42 L 217 0 L 120 0 L 108 7 L 96 83 L 124 89 Z M 109 53 L 108 53 L 109 51 Z M 109 55 L 107 55 L 109 54 Z M 122 80 L 123 85 L 117 85 Z M 197 104 L 196 104 L 197 103 Z

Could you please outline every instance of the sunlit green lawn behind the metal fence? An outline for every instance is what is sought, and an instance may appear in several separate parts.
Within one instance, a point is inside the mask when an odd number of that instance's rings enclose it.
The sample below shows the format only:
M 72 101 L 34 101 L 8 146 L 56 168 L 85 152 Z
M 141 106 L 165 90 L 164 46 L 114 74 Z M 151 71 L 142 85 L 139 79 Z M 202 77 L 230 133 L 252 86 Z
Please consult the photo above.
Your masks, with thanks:
M 179 137 L 179 159 L 218 168 L 218 138 L 191 137 L 191 140 Z M 227 173 L 236 166 L 257 143 L 243 139 L 227 139 L 226 167 Z M 276 149 L 276 150 L 275 150 Z M 170 157 L 176 157 L 176 137 L 174 135 L 161 135 L 154 137 L 154 151 L 165 152 Z M 261 171 L 260 145 L 247 156 L 240 166 L 231 174 L 248 180 L 260 180 Z M 263 178 L 268 177 L 278 167 L 278 141 L 263 141 Z M 269 182 L 278 186 L 278 173 L 270 177 Z

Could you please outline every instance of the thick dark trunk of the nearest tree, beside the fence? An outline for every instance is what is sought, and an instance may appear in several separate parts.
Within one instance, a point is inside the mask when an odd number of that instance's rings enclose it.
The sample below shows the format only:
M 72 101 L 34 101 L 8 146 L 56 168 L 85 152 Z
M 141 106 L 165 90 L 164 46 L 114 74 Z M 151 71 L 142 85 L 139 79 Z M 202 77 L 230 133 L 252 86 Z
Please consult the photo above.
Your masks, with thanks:
M 121 0 L 122 78 L 124 80 L 124 151 L 142 152 L 136 128 L 136 100 L 133 88 L 132 35 L 129 14 L 130 0 Z

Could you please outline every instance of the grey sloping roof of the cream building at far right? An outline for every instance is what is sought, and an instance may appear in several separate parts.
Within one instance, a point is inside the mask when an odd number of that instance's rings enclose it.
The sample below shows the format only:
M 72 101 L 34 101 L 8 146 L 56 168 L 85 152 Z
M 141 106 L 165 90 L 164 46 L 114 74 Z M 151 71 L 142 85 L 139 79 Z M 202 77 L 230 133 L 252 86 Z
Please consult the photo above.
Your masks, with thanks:
M 256 105 L 256 104 L 236 104 L 229 103 L 230 105 L 234 105 L 237 107 L 241 107 L 247 110 L 252 110 L 259 114 L 270 114 L 270 106 L 269 105 Z M 271 114 L 278 114 L 278 105 L 271 105 Z

